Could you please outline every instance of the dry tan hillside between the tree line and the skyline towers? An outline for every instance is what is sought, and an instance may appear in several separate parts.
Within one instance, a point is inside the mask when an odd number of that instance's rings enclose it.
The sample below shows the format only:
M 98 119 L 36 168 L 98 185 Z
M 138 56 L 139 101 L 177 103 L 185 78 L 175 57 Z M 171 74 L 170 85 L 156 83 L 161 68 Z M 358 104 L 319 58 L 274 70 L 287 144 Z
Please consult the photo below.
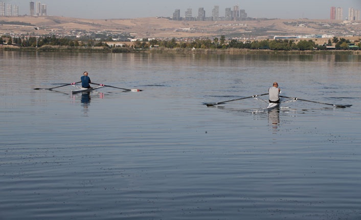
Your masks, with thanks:
M 26 22 L 9 25 L 9 22 Z M 171 21 L 167 18 L 81 19 L 69 17 L 0 17 L 0 34 L 71 34 L 79 31 L 130 33 L 138 38 L 244 37 L 328 34 L 361 36 L 361 23 L 335 20 L 265 19 L 252 21 Z M 35 30 L 34 27 L 39 27 Z

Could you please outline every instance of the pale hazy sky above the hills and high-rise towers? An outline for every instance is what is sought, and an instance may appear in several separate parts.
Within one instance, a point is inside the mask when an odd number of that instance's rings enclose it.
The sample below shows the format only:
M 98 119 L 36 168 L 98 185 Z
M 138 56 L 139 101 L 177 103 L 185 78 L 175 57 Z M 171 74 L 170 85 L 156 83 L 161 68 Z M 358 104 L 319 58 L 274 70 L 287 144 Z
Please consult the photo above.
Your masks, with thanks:
M 36 2 L 36 0 L 32 0 Z M 29 14 L 30 0 L 0 0 L 19 6 L 20 15 Z M 361 0 L 43 0 L 47 5 L 48 15 L 78 17 L 78 18 L 137 18 L 172 16 L 175 9 L 181 10 L 185 16 L 187 8 L 192 8 L 192 15 L 198 15 L 198 8 L 203 7 L 206 16 L 211 16 L 215 5 L 219 6 L 220 16 L 224 16 L 225 8 L 238 5 L 245 9 L 249 17 L 267 18 L 310 18 L 327 19 L 330 17 L 330 7 L 344 9 L 344 17 L 348 16 L 348 8 L 361 10 Z

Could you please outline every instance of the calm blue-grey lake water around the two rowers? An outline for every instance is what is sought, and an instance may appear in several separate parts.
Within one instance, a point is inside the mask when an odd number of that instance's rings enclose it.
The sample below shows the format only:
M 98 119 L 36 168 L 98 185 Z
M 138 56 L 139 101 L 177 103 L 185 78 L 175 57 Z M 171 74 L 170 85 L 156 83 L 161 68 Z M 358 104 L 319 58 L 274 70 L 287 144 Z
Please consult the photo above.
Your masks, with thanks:
M 361 218 L 361 56 L 0 51 L 0 60 L 1 220 Z M 85 70 L 94 83 L 143 91 L 34 90 Z M 352 107 L 204 105 L 274 81 L 282 95 Z

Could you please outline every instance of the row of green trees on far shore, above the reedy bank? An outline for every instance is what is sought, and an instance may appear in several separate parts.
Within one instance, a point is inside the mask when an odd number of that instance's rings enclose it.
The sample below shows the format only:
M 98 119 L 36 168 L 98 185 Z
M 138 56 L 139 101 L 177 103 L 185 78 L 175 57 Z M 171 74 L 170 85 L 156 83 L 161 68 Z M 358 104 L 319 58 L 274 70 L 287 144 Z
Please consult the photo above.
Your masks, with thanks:
M 9 36 L 1 36 L 0 44 L 4 44 L 5 40 L 8 45 L 17 45 L 20 47 L 41 47 L 44 45 L 51 46 L 69 46 L 69 47 L 89 47 L 100 46 L 112 48 L 114 52 L 125 52 L 126 48 L 129 50 L 148 50 L 153 47 L 165 47 L 165 48 L 204 48 L 204 49 L 227 49 L 227 48 L 246 48 L 251 50 L 275 50 L 275 51 L 308 51 L 308 50 L 326 50 L 326 45 L 316 44 L 313 40 L 295 40 L 295 39 L 266 39 L 266 40 L 226 40 L 222 35 L 220 38 L 214 38 L 213 40 L 207 39 L 194 39 L 191 41 L 176 41 L 172 39 L 147 39 L 137 40 L 133 45 L 123 45 L 116 48 L 114 45 L 108 45 L 102 40 L 96 41 L 93 39 L 76 40 L 70 38 L 59 38 L 56 36 L 48 37 L 16 37 L 11 38 Z M 355 44 L 354 47 L 350 47 L 350 40 L 345 38 L 333 37 L 328 40 L 328 44 L 334 45 L 335 50 L 359 50 L 361 47 L 360 41 Z M 118 46 L 119 47 L 119 46 Z

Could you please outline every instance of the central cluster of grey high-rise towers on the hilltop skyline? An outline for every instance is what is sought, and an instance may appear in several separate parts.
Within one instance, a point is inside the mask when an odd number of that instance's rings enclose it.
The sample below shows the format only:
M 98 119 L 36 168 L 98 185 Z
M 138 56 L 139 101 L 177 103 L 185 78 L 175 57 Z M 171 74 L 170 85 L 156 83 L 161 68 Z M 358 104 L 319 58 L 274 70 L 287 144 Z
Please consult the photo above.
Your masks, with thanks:
M 219 16 L 219 6 L 214 6 L 212 9 L 212 16 L 207 17 L 204 8 L 198 8 L 198 16 L 193 16 L 192 9 L 188 8 L 185 12 L 185 16 L 181 16 L 181 10 L 175 9 L 172 20 L 247 20 L 247 13 L 244 9 L 239 9 L 239 6 L 233 6 L 232 8 L 225 8 L 224 17 Z

